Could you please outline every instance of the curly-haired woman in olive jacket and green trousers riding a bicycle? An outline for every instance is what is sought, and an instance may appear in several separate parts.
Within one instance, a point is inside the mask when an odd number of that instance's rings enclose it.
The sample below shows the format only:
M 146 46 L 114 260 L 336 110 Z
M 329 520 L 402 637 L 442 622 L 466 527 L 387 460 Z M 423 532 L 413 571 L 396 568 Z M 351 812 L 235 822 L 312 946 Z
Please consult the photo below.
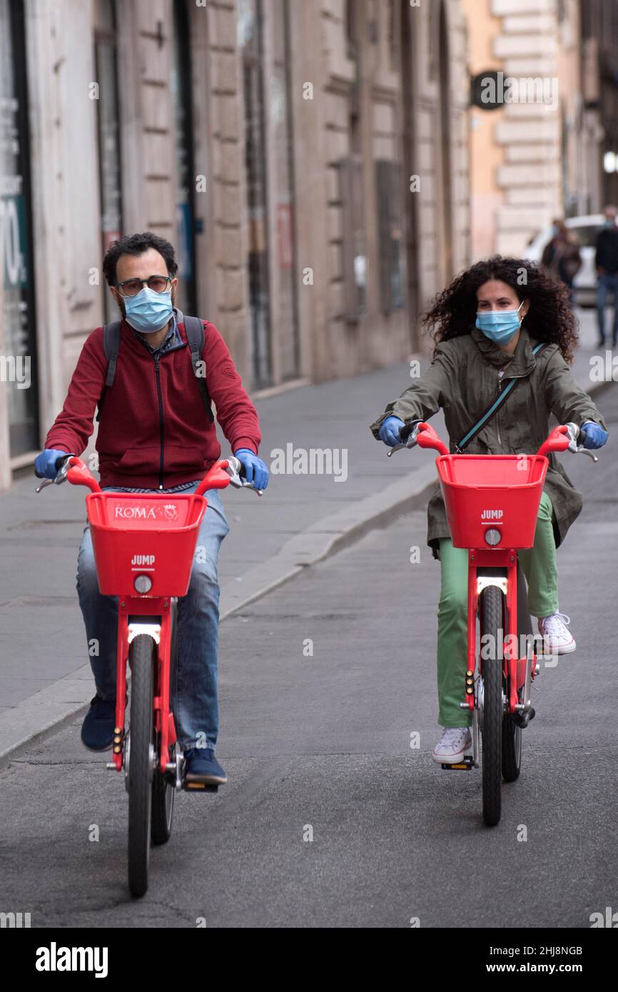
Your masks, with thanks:
M 438 294 L 423 322 L 433 332 L 433 362 L 371 426 L 385 444 L 399 444 L 405 426 L 440 408 L 451 452 L 465 446 L 469 454 L 533 454 L 549 434 L 551 414 L 580 429 L 584 448 L 605 444 L 605 422 L 568 369 L 577 333 L 566 291 L 537 266 L 500 256 L 478 262 Z M 570 621 L 558 611 L 556 548 L 581 506 L 581 494 L 551 454 L 534 547 L 519 553 L 547 654 L 575 649 Z M 452 545 L 439 485 L 428 521 L 428 544 L 441 572 L 437 692 L 443 733 L 433 759 L 457 764 L 471 744 L 472 714 L 462 715 L 461 708 L 468 561 L 466 550 Z

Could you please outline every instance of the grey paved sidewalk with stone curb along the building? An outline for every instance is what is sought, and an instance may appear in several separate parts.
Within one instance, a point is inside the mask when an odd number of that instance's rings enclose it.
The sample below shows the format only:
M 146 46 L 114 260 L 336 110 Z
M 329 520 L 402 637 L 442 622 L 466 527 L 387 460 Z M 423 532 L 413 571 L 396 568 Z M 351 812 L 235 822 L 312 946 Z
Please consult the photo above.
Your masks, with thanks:
M 580 311 L 580 318 L 582 347 L 573 375 L 589 390 L 595 385 L 589 378 L 593 311 Z M 347 477 L 337 482 L 333 475 L 273 474 L 261 499 L 225 491 L 230 534 L 219 558 L 223 617 L 386 522 L 433 481 L 433 452 L 416 449 L 388 458 L 368 430 L 409 382 L 409 366 L 398 364 L 256 404 L 268 463 L 275 449 L 286 452 L 288 445 L 344 450 Z M 441 415 L 433 424 L 443 433 Z M 343 479 L 345 461 L 335 466 Z M 0 763 L 26 740 L 68 719 L 93 694 L 74 587 L 84 491 L 64 485 L 36 495 L 35 485 L 33 474 L 0 496 Z

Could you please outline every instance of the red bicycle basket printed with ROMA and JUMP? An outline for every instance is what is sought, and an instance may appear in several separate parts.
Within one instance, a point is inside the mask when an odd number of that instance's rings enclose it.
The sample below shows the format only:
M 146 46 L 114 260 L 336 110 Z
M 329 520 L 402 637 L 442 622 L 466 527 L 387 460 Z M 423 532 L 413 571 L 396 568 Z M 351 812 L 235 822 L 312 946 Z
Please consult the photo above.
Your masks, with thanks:
M 206 500 L 195 493 L 90 493 L 86 510 L 96 574 L 104 596 L 185 596 Z

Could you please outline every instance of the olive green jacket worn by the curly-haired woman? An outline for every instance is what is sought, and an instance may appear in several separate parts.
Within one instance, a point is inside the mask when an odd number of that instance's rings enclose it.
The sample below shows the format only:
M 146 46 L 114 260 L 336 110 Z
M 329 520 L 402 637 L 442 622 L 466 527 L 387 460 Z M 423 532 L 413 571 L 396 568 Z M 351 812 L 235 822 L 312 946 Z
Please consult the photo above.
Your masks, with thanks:
M 466 453 L 534 454 L 550 434 L 551 414 L 559 424 L 572 422 L 581 427 L 584 421 L 594 421 L 607 430 L 590 397 L 572 378 L 558 346 L 546 344 L 539 354 L 533 355 L 538 343 L 522 327 L 511 360 L 510 355 L 476 327 L 470 334 L 443 341 L 437 345 L 425 375 L 413 382 L 399 400 L 389 403 L 384 414 L 371 425 L 372 433 L 378 436 L 387 417 L 396 416 L 406 422 L 425 421 L 441 407 L 449 448 L 454 451 L 455 444 L 480 420 L 503 384 L 516 376 L 522 382 L 470 441 Z M 498 373 L 502 368 L 504 376 L 500 380 Z M 583 500 L 555 454 L 550 455 L 545 491 L 554 506 L 557 547 L 579 515 Z M 428 544 L 437 557 L 440 538 L 449 537 L 439 484 L 428 506 L 428 523 Z

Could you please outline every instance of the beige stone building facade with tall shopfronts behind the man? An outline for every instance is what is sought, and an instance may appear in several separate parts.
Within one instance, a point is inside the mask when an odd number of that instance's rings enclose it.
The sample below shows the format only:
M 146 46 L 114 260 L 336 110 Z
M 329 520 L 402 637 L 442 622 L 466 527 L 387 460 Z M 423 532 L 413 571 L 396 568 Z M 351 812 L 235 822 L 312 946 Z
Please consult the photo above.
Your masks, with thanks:
M 417 350 L 469 260 L 466 31 L 464 0 L 0 0 L 0 486 L 115 317 L 120 233 L 176 245 L 254 393 Z

